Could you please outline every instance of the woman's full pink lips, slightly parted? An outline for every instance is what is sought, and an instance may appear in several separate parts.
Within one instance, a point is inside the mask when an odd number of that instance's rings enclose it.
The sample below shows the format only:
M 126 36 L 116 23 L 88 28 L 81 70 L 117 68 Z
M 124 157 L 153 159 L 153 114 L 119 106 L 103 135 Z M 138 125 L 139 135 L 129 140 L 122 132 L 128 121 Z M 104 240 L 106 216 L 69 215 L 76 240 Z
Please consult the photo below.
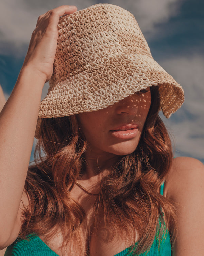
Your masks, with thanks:
M 137 124 L 124 124 L 118 127 L 115 127 L 113 130 L 110 130 L 112 136 L 119 139 L 132 139 L 137 136 L 138 125 Z

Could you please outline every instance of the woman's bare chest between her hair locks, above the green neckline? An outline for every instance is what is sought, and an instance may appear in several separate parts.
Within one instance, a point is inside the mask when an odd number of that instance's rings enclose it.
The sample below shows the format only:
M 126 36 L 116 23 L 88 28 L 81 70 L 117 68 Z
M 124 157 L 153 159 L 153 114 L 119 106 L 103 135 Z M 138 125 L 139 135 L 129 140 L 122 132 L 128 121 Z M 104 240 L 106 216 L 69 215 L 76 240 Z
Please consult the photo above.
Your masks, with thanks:
M 76 191 L 76 193 L 79 195 L 79 191 Z M 130 247 L 134 243 L 133 237 L 127 238 L 121 230 L 113 233 L 111 225 L 105 224 L 102 213 L 99 213 L 99 222 L 95 227 L 95 199 L 95 196 L 84 193 L 77 197 L 78 202 L 86 212 L 86 217 L 83 225 L 77 229 L 69 241 L 64 241 L 63 230 L 58 230 L 51 239 L 46 239 L 45 236 L 40 237 L 41 240 L 60 256 L 113 256 Z

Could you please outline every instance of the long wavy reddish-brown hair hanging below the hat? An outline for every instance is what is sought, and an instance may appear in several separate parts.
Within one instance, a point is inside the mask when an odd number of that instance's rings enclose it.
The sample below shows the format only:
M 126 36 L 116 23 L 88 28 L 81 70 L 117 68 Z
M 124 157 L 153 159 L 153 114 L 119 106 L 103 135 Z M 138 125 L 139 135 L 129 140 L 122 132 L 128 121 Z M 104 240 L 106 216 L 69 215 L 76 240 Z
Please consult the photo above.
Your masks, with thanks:
M 95 227 L 99 209 L 104 223 L 115 232 L 133 237 L 138 234 L 134 253 L 150 248 L 155 234 L 168 228 L 172 242 L 176 235 L 176 213 L 172 201 L 159 193 L 171 168 L 171 140 L 160 119 L 158 86 L 151 87 L 151 106 L 136 150 L 114 166 L 101 181 L 94 204 Z M 25 191 L 29 207 L 24 210 L 20 237 L 30 233 L 50 235 L 60 228 L 64 240 L 76 236 L 86 218 L 83 207 L 70 196 L 75 181 L 82 173 L 87 142 L 79 132 L 77 116 L 42 120 L 40 139 L 35 149 L 35 164 L 29 167 Z M 165 224 L 163 216 L 165 216 Z M 160 223 L 160 224 L 159 224 Z M 111 239 L 111 238 L 110 238 Z M 80 239 L 75 240 L 79 242 Z

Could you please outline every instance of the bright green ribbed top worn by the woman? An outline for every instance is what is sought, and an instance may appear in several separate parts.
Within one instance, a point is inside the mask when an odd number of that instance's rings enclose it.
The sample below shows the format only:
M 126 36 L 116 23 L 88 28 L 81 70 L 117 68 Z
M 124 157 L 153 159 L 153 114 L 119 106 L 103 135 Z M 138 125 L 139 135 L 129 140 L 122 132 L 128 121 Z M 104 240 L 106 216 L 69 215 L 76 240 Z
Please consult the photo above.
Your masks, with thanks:
M 160 193 L 163 195 L 164 183 L 161 186 Z M 137 246 L 137 243 L 135 244 Z M 52 251 L 36 234 L 28 236 L 28 240 L 17 239 L 8 246 L 4 256 L 58 256 Z M 114 256 L 136 256 L 130 253 L 130 247 Z M 158 234 L 149 249 L 145 253 L 137 256 L 171 256 L 171 243 L 168 230 L 164 231 L 159 243 Z

